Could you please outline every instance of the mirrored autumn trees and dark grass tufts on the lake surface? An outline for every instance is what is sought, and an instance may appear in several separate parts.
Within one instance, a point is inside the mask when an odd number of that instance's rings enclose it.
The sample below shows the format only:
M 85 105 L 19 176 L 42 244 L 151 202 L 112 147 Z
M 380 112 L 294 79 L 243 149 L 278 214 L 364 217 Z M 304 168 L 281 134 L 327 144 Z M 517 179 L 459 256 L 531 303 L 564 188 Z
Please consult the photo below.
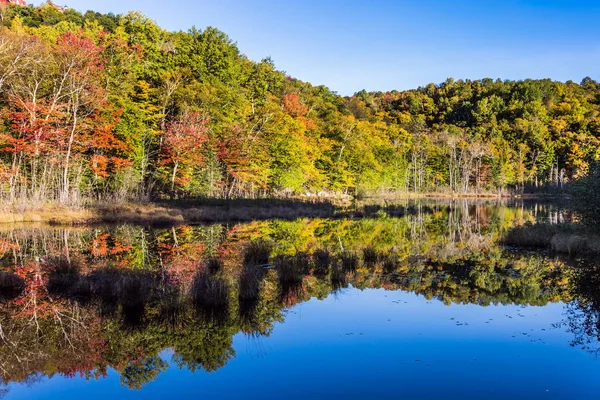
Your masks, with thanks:
M 173 362 L 216 371 L 233 337 L 266 337 L 286 310 L 351 285 L 444 304 L 568 304 L 572 345 L 597 351 L 600 271 L 505 249 L 541 207 L 460 204 L 403 217 L 0 233 L 0 381 L 116 370 L 139 389 Z M 377 212 L 381 211 L 377 210 Z

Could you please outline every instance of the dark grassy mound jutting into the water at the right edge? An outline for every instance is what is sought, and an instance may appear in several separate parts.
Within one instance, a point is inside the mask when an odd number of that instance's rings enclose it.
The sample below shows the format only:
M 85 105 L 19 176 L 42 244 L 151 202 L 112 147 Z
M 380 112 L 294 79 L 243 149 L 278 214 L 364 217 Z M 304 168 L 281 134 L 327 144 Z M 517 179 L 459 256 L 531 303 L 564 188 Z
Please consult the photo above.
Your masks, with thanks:
M 543 248 L 571 256 L 600 254 L 600 236 L 577 224 L 519 226 L 508 231 L 502 243 L 521 248 Z

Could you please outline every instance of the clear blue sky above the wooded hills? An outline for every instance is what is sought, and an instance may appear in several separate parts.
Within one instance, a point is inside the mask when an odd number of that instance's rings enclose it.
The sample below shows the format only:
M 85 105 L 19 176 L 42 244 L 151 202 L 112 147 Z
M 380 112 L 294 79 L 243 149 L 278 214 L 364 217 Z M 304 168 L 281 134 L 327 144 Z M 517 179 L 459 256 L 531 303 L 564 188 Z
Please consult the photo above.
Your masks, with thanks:
M 36 4 L 41 1 L 34 2 Z M 600 0 L 55 0 L 214 26 L 253 60 L 342 95 L 447 77 L 600 78 Z

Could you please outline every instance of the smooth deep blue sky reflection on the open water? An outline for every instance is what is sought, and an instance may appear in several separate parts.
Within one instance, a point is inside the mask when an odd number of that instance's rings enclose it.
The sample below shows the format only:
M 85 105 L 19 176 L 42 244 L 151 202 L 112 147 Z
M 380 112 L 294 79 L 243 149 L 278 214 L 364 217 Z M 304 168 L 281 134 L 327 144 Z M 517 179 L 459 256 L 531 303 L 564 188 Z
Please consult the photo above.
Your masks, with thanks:
M 173 367 L 131 391 L 113 371 L 12 386 L 6 398 L 598 399 L 600 359 L 569 346 L 553 328 L 563 318 L 562 304 L 444 306 L 348 289 L 291 309 L 270 337 L 235 336 L 236 358 L 210 374 Z

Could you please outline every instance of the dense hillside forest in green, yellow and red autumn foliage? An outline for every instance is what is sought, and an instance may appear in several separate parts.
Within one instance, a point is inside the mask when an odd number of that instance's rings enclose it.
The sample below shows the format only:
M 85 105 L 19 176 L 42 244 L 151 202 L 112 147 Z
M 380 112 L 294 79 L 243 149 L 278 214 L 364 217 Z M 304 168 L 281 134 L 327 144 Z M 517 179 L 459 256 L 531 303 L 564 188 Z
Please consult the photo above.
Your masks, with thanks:
M 600 159 L 600 87 L 446 82 L 341 97 L 214 28 L 0 8 L 3 201 L 557 186 Z

